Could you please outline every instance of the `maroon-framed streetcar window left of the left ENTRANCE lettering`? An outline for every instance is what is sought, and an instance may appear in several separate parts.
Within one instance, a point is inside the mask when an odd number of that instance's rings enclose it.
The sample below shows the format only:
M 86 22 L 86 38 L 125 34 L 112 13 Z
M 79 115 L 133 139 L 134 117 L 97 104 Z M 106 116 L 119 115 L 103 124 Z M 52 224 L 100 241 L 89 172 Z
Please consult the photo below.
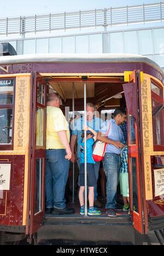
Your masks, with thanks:
M 0 79 L 0 144 L 11 144 L 14 79 Z

